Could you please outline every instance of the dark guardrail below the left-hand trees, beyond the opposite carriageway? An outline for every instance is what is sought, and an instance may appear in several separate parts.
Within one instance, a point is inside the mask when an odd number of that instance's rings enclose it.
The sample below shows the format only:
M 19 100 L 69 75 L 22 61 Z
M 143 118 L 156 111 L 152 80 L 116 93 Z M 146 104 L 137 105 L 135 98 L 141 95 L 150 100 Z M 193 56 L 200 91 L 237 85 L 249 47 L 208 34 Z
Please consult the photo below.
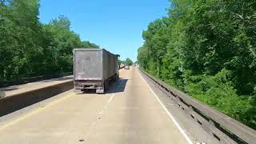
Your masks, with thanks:
M 62 74 L 41 75 L 41 76 L 30 77 L 30 78 L 19 78 L 12 81 L 0 81 L 0 87 L 21 85 L 28 82 L 37 82 L 37 81 L 42 81 L 50 78 L 65 77 L 72 74 L 73 74 L 72 72 L 68 72 L 68 73 L 62 73 Z

